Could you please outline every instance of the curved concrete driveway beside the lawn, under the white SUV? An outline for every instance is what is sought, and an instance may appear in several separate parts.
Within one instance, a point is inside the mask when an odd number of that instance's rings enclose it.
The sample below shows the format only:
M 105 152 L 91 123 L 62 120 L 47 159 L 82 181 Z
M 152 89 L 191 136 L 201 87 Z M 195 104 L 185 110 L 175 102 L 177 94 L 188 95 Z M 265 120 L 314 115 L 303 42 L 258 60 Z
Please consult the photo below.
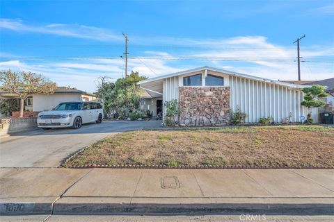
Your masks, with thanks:
M 161 121 L 104 121 L 78 130 L 33 130 L 0 138 L 0 167 L 58 167 L 67 155 L 113 133 L 161 127 Z

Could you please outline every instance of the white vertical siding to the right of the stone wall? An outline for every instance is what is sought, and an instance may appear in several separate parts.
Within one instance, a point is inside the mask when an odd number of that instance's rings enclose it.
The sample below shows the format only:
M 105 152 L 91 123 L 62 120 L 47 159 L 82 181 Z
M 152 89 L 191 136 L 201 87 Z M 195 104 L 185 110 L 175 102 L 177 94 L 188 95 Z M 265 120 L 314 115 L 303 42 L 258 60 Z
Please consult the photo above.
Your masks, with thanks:
M 301 105 L 303 92 L 273 83 L 264 83 L 237 76 L 230 76 L 231 100 L 233 111 L 240 108 L 246 112 L 247 122 L 258 122 L 261 117 L 272 117 L 275 122 L 282 121 L 292 113 L 291 121 L 300 121 L 306 115 Z

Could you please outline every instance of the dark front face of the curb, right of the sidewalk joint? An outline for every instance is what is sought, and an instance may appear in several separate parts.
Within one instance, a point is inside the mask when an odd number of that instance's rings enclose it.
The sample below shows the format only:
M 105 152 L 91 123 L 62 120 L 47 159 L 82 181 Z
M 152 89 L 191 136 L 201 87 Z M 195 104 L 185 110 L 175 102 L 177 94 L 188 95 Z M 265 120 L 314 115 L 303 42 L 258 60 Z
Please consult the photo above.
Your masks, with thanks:
M 324 214 L 333 204 L 56 204 L 54 214 Z

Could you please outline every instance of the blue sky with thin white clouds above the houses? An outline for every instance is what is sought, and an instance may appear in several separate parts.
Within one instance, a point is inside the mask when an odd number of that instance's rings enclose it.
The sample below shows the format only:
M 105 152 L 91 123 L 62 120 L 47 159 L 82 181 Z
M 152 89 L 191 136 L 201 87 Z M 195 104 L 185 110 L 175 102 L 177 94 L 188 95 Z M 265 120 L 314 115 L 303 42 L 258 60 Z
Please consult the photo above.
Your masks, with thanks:
M 0 2 L 0 69 L 95 91 L 98 76 L 149 77 L 209 65 L 280 80 L 334 76 L 334 1 Z M 182 59 L 180 59 L 182 58 Z M 189 59 L 191 58 L 191 59 Z M 247 61 L 245 61 L 247 60 Z

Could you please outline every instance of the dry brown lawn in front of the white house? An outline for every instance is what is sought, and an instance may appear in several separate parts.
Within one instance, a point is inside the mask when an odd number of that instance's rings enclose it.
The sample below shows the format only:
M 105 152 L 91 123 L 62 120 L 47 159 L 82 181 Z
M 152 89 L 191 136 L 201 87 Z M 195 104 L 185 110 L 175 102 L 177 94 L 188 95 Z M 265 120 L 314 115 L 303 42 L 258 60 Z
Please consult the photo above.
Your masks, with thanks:
M 65 167 L 334 167 L 334 128 L 268 126 L 120 133 L 88 146 Z

